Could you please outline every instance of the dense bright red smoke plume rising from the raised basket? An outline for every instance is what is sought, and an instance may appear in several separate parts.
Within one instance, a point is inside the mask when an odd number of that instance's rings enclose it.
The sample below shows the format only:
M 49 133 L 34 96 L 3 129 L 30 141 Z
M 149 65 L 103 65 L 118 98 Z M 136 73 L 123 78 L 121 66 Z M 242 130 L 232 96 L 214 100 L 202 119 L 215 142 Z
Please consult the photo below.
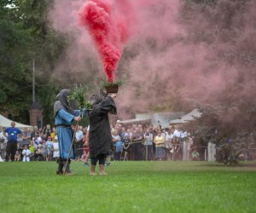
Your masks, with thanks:
M 113 82 L 123 43 L 128 38 L 128 22 L 116 6 L 108 0 L 90 0 L 79 13 L 81 26 L 90 32 L 102 58 L 108 82 Z

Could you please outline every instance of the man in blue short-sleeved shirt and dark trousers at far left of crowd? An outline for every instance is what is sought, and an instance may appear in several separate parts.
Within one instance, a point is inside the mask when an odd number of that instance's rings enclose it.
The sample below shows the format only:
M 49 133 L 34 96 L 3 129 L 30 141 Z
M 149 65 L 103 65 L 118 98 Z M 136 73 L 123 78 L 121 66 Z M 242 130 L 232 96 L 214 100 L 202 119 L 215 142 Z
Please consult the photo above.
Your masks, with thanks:
M 6 135 L 8 133 L 8 135 Z M 6 128 L 3 132 L 3 135 L 7 136 L 8 142 L 6 147 L 6 157 L 5 161 L 15 161 L 15 153 L 17 151 L 17 139 L 18 136 L 21 136 L 21 131 L 18 128 L 15 128 L 15 122 L 11 123 L 11 127 Z

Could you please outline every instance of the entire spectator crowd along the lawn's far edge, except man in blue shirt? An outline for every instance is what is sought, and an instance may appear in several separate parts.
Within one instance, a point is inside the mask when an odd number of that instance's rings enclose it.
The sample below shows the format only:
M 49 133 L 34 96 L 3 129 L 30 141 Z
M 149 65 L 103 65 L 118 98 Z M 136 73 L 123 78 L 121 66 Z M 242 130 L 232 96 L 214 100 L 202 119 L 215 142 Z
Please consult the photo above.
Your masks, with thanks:
M 7 137 L 0 132 L 1 157 L 6 158 Z M 74 130 L 74 127 L 73 127 Z M 75 160 L 88 158 L 87 127 L 79 126 L 75 132 Z M 177 126 L 131 124 L 123 126 L 117 121 L 111 125 L 113 160 L 198 160 L 193 149 L 193 138 Z M 17 139 L 15 161 L 52 161 L 59 158 L 55 127 L 24 129 Z M 8 159 L 10 160 L 10 159 Z

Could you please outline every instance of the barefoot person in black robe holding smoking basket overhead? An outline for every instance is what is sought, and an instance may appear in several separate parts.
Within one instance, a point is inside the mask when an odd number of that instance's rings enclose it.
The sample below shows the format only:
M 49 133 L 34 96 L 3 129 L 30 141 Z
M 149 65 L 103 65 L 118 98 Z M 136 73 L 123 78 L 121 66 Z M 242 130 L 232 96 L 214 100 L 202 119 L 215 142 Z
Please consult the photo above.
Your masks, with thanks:
M 113 98 L 116 94 L 106 95 L 102 91 L 99 95 L 92 95 L 90 102 L 92 109 L 89 112 L 89 148 L 90 148 L 90 175 L 96 175 L 96 164 L 99 162 L 99 174 L 107 175 L 104 170 L 105 158 L 112 152 L 112 135 L 108 120 L 108 112 L 116 114 Z

